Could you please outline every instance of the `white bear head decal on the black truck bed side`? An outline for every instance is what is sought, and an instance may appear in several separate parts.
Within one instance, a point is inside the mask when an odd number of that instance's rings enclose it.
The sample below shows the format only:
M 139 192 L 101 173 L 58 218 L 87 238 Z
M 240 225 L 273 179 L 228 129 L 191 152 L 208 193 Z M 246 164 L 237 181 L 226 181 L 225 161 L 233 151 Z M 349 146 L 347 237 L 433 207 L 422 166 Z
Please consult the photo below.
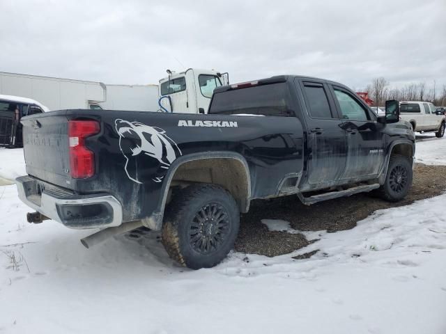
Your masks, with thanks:
M 171 163 L 181 155 L 178 145 L 159 127 L 121 119 L 115 120 L 115 127 L 128 178 L 139 184 L 161 182 Z

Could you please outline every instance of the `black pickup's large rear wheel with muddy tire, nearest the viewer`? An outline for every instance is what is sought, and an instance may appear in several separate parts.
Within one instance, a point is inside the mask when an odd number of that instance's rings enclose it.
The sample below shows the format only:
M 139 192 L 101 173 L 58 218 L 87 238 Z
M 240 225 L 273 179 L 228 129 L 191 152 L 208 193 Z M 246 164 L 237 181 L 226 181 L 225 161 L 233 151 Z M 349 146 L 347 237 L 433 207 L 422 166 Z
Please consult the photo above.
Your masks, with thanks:
M 239 224 L 240 212 L 228 191 L 215 184 L 194 184 L 169 204 L 162 244 L 185 267 L 214 267 L 233 248 Z

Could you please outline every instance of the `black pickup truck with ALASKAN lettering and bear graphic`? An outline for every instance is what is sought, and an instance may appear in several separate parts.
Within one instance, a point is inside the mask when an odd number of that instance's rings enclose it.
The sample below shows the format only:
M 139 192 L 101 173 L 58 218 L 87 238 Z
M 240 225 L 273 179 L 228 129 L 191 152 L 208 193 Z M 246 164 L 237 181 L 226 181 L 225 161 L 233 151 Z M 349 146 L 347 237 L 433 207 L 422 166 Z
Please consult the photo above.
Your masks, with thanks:
M 376 116 L 346 86 L 312 77 L 217 88 L 208 115 L 63 110 L 22 124 L 29 175 L 17 188 L 30 222 L 100 228 L 86 247 L 144 225 L 192 269 L 226 257 L 251 200 L 397 201 L 412 183 L 415 136 L 398 102 Z

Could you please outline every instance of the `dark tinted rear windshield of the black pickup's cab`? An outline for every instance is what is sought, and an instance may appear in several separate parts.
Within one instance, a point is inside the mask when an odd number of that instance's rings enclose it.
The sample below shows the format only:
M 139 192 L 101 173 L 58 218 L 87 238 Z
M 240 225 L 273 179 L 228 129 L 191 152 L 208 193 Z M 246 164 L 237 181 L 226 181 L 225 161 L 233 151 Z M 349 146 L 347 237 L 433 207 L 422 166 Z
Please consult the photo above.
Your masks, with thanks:
M 286 84 L 278 83 L 215 93 L 209 113 L 291 116 L 286 103 L 287 92 Z

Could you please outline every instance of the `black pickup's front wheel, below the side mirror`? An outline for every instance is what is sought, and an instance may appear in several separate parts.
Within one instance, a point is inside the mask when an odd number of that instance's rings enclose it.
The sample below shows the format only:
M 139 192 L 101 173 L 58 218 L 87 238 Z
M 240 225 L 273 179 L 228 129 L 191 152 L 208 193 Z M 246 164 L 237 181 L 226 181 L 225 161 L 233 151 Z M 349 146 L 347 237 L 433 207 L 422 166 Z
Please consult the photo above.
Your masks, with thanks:
M 408 157 L 392 155 L 385 175 L 385 182 L 378 189 L 380 198 L 389 202 L 398 202 L 406 197 L 412 186 L 413 170 Z

